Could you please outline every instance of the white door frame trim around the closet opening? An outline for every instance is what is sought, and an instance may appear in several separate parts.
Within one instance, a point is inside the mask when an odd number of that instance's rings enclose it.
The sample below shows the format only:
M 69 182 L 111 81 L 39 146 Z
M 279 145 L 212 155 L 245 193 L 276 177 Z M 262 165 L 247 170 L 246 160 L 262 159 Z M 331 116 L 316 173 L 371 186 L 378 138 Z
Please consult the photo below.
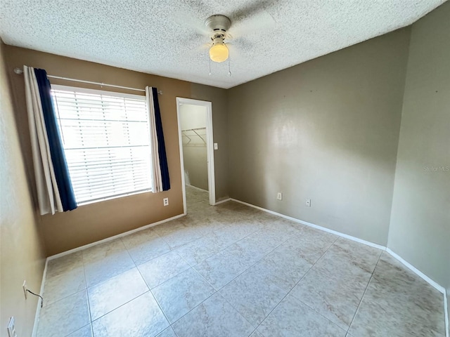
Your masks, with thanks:
M 214 138 L 212 134 L 212 103 L 206 100 L 193 100 L 191 98 L 176 98 L 176 118 L 178 119 L 178 139 L 180 149 L 180 169 L 181 169 L 181 184 L 183 185 L 183 208 L 184 214 L 187 214 L 186 209 L 186 183 L 184 181 L 184 157 L 183 157 L 183 140 L 181 134 L 181 119 L 180 107 L 183 104 L 197 105 L 206 107 L 206 157 L 207 157 L 207 171 L 208 171 L 208 194 L 210 205 L 216 204 L 216 184 L 214 177 Z

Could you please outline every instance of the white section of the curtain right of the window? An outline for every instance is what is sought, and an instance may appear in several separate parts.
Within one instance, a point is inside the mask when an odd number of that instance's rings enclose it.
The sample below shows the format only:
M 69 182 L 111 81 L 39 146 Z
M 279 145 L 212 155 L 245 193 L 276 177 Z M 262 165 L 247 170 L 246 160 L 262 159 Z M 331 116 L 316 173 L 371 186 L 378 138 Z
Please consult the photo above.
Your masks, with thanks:
M 153 100 L 152 88 L 146 86 L 147 110 L 150 120 L 150 144 L 152 161 L 152 192 L 162 192 L 162 176 L 160 167 L 160 154 L 158 152 L 158 136 L 156 134 L 155 102 Z

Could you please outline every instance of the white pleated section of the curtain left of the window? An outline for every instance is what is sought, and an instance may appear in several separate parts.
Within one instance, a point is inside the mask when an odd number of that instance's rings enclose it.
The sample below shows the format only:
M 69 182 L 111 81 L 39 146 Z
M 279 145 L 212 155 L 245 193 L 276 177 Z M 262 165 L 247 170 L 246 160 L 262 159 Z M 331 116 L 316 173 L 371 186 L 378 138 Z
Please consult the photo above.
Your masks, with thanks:
M 33 67 L 23 67 L 28 125 L 32 145 L 34 176 L 41 215 L 63 211 L 55 171 L 51 161 L 49 138 L 42 112 L 41 96 Z

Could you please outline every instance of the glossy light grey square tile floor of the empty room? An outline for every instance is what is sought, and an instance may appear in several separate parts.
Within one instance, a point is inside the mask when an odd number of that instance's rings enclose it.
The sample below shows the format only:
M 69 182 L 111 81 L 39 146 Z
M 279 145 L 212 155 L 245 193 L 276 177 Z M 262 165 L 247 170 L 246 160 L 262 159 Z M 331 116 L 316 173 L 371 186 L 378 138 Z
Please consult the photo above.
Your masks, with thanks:
M 188 188 L 188 216 L 49 261 L 38 336 L 445 336 L 378 249 Z

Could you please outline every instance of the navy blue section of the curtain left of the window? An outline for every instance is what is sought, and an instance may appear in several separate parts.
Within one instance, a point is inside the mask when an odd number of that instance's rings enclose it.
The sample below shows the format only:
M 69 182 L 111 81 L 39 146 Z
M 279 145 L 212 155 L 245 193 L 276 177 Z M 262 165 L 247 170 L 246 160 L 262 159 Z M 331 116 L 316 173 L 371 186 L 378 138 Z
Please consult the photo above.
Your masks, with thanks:
M 68 163 L 65 160 L 63 143 L 56 120 L 55 107 L 53 107 L 53 100 L 51 99 L 50 81 L 43 69 L 34 69 L 34 74 L 36 74 L 37 85 L 39 86 L 39 96 L 41 97 L 47 137 L 49 138 L 51 161 L 53 161 L 61 204 L 63 204 L 64 211 L 72 211 L 72 209 L 77 208 L 77 201 L 75 201 Z

